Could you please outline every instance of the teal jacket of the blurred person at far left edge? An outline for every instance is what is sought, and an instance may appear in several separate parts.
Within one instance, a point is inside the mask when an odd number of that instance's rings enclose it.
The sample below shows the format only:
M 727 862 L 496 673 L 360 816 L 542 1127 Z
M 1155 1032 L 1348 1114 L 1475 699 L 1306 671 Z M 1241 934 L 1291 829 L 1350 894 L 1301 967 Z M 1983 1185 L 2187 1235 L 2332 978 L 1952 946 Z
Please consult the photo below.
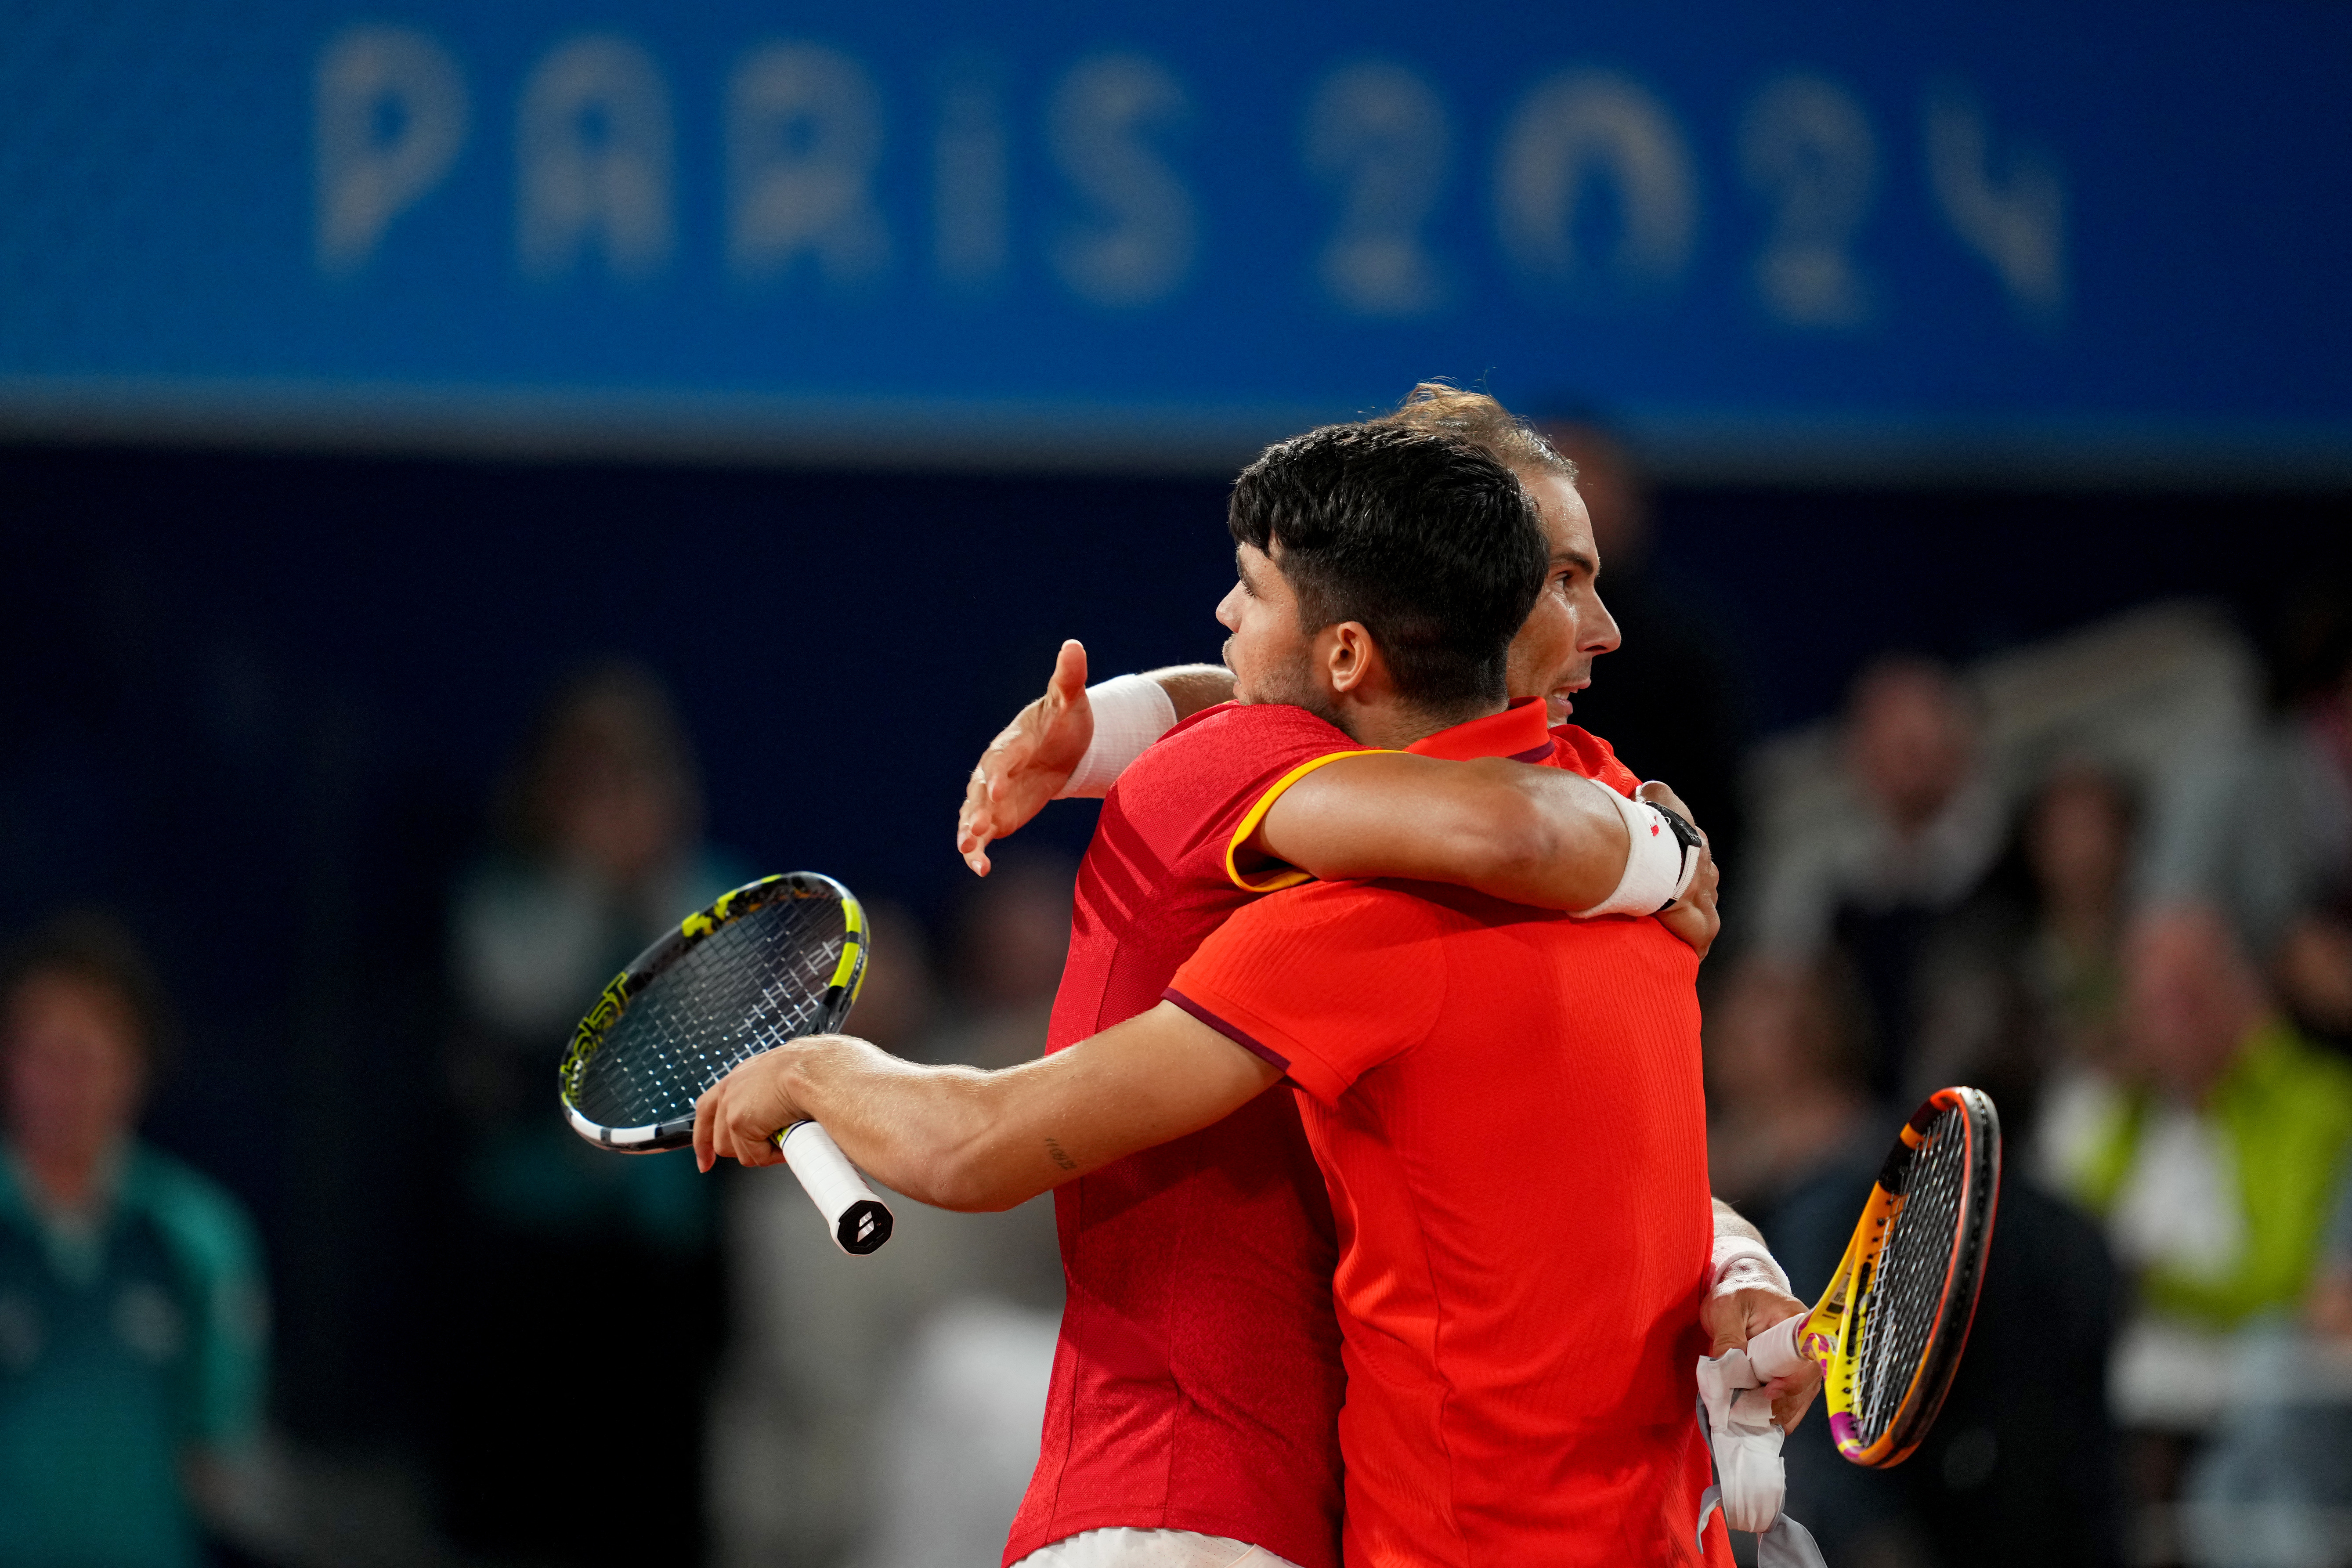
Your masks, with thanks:
M 54 1229 L 0 1161 L 0 1568 L 193 1568 L 188 1448 L 261 1418 L 268 1312 L 245 1208 L 132 1145 L 103 1227 Z

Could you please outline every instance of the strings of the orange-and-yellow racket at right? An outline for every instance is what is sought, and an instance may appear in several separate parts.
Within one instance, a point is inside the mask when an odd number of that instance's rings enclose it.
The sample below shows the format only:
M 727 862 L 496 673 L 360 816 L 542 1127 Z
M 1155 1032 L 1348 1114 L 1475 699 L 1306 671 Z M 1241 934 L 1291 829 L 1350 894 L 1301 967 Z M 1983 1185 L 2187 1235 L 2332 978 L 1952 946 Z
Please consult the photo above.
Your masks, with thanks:
M 1856 1356 L 1856 1420 L 1865 1443 L 1893 1425 L 1936 1335 L 1966 1178 L 1966 1117 L 1952 1110 L 1922 1140 L 1903 1208 L 1872 1269 Z

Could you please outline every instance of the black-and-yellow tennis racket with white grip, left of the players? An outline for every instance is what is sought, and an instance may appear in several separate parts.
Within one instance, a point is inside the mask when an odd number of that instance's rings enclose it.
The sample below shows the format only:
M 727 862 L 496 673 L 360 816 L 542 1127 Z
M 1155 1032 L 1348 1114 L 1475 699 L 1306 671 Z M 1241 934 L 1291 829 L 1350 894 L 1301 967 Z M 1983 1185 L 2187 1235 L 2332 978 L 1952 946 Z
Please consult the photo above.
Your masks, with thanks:
M 849 1018 L 866 978 L 866 912 L 833 877 L 739 886 L 623 969 L 564 1053 L 564 1117 L 588 1143 L 654 1154 L 694 1143 L 694 1103 L 788 1039 Z M 889 1241 L 891 1215 L 814 1121 L 776 1133 L 844 1253 Z

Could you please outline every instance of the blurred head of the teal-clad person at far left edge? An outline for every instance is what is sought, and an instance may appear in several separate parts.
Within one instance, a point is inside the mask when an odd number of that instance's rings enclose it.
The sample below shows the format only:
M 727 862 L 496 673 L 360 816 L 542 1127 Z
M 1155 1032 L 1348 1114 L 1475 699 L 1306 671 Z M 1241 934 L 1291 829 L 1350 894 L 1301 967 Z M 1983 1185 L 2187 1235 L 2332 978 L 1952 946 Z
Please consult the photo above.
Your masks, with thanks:
M 0 1020 L 9 1135 L 35 1159 L 103 1154 L 139 1117 L 139 1025 L 106 990 L 33 976 Z

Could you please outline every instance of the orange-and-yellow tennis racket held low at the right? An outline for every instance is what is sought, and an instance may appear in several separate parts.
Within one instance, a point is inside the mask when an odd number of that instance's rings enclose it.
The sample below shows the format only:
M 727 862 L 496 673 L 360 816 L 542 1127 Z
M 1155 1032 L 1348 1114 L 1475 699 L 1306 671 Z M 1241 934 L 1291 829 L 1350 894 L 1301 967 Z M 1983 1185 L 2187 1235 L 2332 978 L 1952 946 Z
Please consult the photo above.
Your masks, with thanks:
M 1940 1088 L 1879 1166 L 1820 1305 L 1748 1345 L 1759 1378 L 1813 1361 L 1830 1436 L 1856 1465 L 1910 1458 L 1959 1371 L 2002 1187 L 2002 1119 L 1976 1088 Z

